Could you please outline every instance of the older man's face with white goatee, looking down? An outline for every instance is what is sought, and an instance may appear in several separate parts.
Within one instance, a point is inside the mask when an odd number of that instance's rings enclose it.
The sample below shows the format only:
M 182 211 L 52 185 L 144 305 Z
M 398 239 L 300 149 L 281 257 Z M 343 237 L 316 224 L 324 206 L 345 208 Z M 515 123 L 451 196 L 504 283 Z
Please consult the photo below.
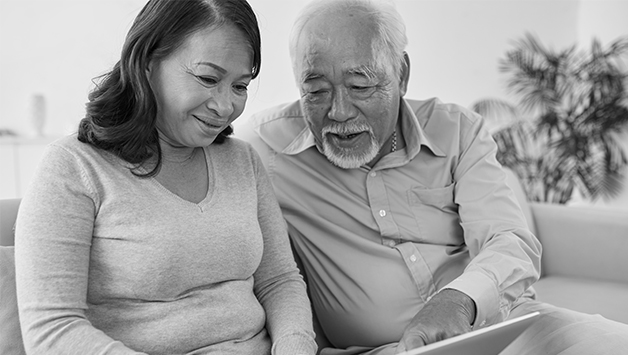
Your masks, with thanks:
M 335 165 L 371 162 L 395 129 L 405 94 L 390 63 L 375 63 L 374 35 L 359 14 L 311 20 L 295 52 L 301 106 L 316 144 Z

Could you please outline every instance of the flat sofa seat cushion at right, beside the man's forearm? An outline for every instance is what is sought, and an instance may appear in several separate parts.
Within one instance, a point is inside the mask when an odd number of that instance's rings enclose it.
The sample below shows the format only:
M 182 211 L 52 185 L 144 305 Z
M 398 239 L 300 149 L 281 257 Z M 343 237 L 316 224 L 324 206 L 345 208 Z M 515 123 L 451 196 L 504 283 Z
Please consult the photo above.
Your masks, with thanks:
M 628 284 L 550 275 L 534 289 L 539 301 L 628 324 Z

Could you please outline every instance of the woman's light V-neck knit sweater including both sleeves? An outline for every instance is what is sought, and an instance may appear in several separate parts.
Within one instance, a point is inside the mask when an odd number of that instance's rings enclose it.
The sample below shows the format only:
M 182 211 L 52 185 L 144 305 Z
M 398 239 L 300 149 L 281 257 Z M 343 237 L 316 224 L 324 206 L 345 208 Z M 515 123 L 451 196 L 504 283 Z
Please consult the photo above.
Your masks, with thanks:
M 313 354 L 309 302 L 256 152 L 204 149 L 198 204 L 81 143 L 51 144 L 16 229 L 32 354 Z

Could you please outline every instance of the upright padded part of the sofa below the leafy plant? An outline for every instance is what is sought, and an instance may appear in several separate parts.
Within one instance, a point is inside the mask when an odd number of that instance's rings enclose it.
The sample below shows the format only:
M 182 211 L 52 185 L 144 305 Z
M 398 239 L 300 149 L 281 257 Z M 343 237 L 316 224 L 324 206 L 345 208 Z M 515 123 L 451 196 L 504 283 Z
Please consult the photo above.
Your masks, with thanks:
M 530 203 L 543 245 L 542 274 L 628 283 L 625 211 Z

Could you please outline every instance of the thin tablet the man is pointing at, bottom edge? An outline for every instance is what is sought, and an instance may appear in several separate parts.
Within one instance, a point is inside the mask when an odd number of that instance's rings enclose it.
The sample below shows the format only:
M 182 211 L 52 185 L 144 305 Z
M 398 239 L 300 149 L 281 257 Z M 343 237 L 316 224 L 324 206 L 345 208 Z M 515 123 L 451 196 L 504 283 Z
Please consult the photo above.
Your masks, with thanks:
M 538 317 L 532 312 L 486 328 L 408 350 L 399 355 L 497 355 Z

